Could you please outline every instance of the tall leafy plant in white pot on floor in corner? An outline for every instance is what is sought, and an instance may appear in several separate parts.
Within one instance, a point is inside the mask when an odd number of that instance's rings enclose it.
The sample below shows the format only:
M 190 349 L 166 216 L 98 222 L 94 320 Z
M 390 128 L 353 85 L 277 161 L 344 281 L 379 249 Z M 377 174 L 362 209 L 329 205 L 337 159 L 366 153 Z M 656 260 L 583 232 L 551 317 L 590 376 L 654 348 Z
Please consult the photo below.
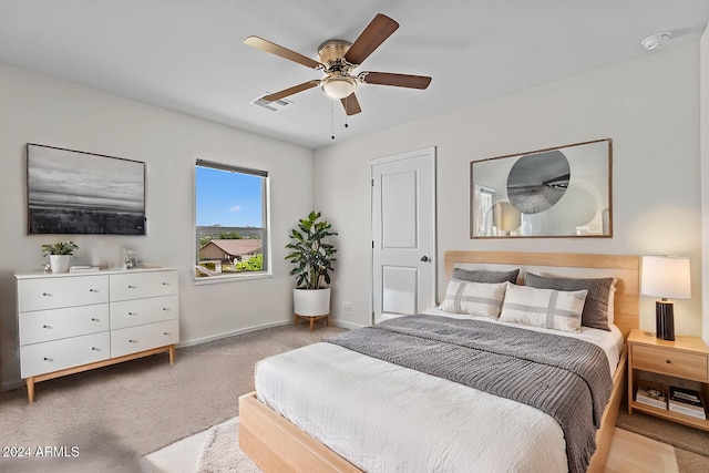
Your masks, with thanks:
M 292 291 L 295 322 L 304 317 L 312 322 L 325 318 L 328 322 L 330 315 L 330 273 L 332 257 L 337 248 L 327 243 L 328 237 L 337 235 L 331 232 L 332 226 L 320 219 L 319 212 L 311 212 L 307 218 L 300 219 L 297 228 L 290 230 L 290 243 L 286 248 L 290 250 L 286 259 L 295 267 L 290 275 L 296 276 L 296 288 Z

